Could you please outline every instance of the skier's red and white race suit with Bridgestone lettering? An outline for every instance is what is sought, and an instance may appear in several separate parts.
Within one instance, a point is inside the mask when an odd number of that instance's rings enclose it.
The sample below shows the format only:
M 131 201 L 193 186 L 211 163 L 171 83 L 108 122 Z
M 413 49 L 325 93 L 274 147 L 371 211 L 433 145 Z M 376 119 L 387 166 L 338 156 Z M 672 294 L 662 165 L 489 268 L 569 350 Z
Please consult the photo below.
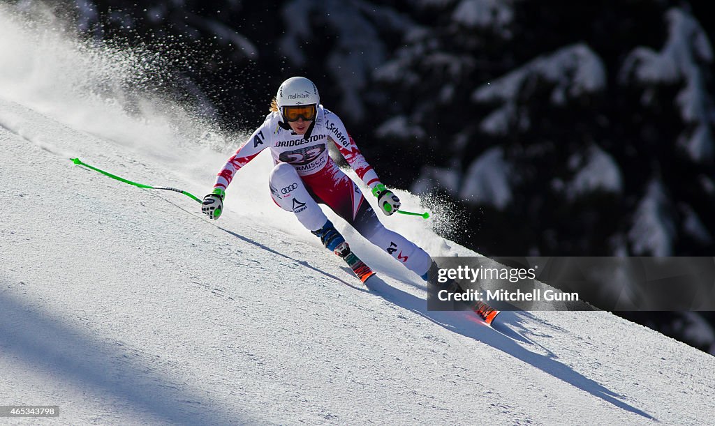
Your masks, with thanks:
M 268 114 L 264 123 L 228 159 L 214 187 L 226 189 L 240 168 L 263 149 L 270 148 L 276 165 L 269 177 L 271 196 L 278 206 L 295 213 L 305 228 L 318 230 L 325 225 L 327 217 L 317 205 L 323 203 L 406 268 L 418 275 L 425 274 L 430 268 L 430 256 L 380 223 L 360 188 L 330 158 L 328 141 L 335 143 L 366 186 L 374 188 L 380 183 L 340 118 L 320 105 L 305 135 L 297 135 L 282 123 L 277 112 Z

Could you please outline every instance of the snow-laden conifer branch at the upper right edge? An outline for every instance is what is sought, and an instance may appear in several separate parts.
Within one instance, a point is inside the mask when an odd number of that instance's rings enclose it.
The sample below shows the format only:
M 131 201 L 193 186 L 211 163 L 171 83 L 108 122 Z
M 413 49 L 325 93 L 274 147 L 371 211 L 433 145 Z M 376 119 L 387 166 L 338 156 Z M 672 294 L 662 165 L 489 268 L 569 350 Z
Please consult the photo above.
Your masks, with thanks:
M 713 49 L 696 19 L 681 9 L 666 14 L 669 37 L 660 52 L 647 47 L 634 49 L 620 71 L 621 83 L 637 81 L 646 87 L 684 83 L 676 103 L 688 128 L 679 138 L 689 156 L 708 163 L 715 158 L 715 99 L 707 90 Z M 643 96 L 648 103 L 649 91 Z

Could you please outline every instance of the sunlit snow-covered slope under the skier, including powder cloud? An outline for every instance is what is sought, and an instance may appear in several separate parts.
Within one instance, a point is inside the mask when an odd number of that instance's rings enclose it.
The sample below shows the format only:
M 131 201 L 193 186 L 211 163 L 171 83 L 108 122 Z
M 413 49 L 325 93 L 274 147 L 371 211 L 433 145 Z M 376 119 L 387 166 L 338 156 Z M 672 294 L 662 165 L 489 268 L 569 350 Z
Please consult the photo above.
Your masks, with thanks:
M 493 330 L 429 312 L 416 276 L 343 228 L 380 273 L 366 288 L 272 203 L 267 155 L 217 222 L 74 166 L 200 196 L 231 151 L 179 105 L 96 94 L 117 74 L 87 55 L 0 9 L 0 405 L 59 405 L 43 422 L 67 425 L 711 422 L 715 358 L 609 313 L 502 313 Z

